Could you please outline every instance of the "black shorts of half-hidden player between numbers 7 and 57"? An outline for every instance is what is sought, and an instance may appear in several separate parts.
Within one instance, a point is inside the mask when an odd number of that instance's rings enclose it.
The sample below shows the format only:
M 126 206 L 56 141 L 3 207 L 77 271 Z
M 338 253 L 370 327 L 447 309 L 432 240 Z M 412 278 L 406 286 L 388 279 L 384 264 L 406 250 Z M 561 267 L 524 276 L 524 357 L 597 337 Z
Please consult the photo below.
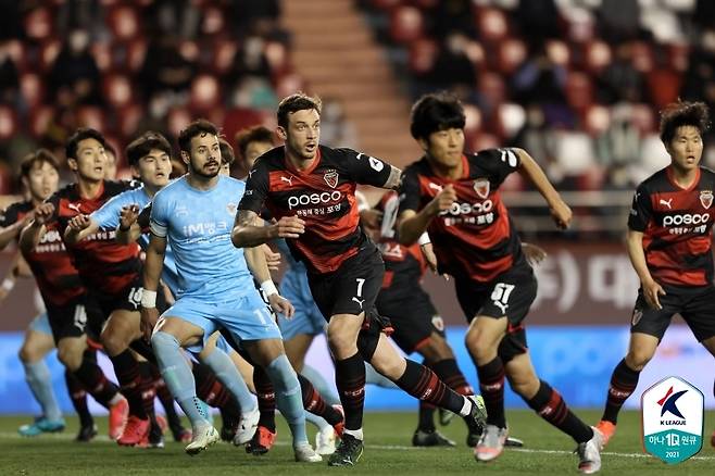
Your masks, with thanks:
M 444 322 L 439 315 L 429 295 L 419 284 L 411 289 L 411 296 L 384 289 L 377 297 L 377 312 L 392 322 L 394 333 L 390 336 L 404 353 L 418 350 L 432 333 L 444 336 Z

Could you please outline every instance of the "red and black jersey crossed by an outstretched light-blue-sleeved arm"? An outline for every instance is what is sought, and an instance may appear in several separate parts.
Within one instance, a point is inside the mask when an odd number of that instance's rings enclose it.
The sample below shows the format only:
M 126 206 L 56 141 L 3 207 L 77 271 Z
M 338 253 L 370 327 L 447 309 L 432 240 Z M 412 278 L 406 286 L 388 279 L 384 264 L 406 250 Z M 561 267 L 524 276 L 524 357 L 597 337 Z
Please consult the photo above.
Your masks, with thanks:
M 99 192 L 91 199 L 79 196 L 76 184 L 71 184 L 48 199 L 54 204 L 58 230 L 64 237 L 74 216 L 99 210 L 110 198 L 140 186 L 136 181 L 103 180 Z M 141 271 L 139 246 L 120 245 L 114 229 L 100 229 L 75 245 L 67 245 L 67 252 L 88 289 L 114 295 L 134 281 Z

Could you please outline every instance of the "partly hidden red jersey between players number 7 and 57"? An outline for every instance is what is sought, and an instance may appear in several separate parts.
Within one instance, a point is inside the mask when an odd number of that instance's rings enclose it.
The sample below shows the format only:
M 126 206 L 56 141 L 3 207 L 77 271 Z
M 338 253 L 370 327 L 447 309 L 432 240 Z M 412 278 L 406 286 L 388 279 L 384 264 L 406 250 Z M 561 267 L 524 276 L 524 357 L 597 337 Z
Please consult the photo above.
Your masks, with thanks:
M 425 273 L 427 263 L 419 250 L 419 245 L 411 247 L 400 245 L 397 239 L 397 217 L 400 199 L 396 191 L 382 196 L 376 209 L 382 212 L 379 240 L 377 247 L 385 261 L 382 289 L 390 296 L 409 297 Z

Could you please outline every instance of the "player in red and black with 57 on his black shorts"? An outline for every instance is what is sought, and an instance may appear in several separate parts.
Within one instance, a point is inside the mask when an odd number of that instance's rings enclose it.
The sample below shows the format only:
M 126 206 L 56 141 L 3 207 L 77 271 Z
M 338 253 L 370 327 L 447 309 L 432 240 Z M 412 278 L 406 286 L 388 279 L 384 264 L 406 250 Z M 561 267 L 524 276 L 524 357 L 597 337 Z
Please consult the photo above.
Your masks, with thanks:
M 440 273 L 454 277 L 457 299 L 469 322 L 466 345 L 488 413 L 475 458 L 491 461 L 503 451 L 509 435 L 506 375 L 531 409 L 574 438 L 579 469 L 599 471 L 601 434 L 574 415 L 531 365 L 524 317 L 536 298 L 537 281 L 499 186 L 510 173 L 522 173 L 544 197 L 561 228 L 569 225 L 570 209 L 524 150 L 465 154 L 465 116 L 455 98 L 424 96 L 414 104 L 411 121 L 412 136 L 425 155 L 403 175 L 398 239 L 411 245 L 428 231 Z

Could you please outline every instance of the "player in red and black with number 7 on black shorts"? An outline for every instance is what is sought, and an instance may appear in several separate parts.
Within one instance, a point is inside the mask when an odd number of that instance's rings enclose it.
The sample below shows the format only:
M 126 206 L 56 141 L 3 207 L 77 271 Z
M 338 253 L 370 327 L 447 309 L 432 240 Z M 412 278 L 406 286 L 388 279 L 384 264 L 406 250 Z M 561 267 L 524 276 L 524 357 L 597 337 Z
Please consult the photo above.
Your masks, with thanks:
M 311 292 L 328 320 L 336 359 L 336 384 L 346 413 L 340 447 L 331 466 L 354 465 L 363 452 L 363 403 L 367 361 L 410 394 L 459 413 L 484 417 L 480 399 L 448 388 L 429 368 L 405 360 L 382 335 L 389 323 L 374 310 L 385 267 L 359 225 L 358 183 L 397 188 L 400 171 L 350 149 L 318 145 L 319 100 L 303 93 L 278 105 L 284 147 L 263 154 L 249 173 L 233 231 L 236 247 L 287 238 L 308 267 Z M 277 222 L 263 226 L 264 204 Z

